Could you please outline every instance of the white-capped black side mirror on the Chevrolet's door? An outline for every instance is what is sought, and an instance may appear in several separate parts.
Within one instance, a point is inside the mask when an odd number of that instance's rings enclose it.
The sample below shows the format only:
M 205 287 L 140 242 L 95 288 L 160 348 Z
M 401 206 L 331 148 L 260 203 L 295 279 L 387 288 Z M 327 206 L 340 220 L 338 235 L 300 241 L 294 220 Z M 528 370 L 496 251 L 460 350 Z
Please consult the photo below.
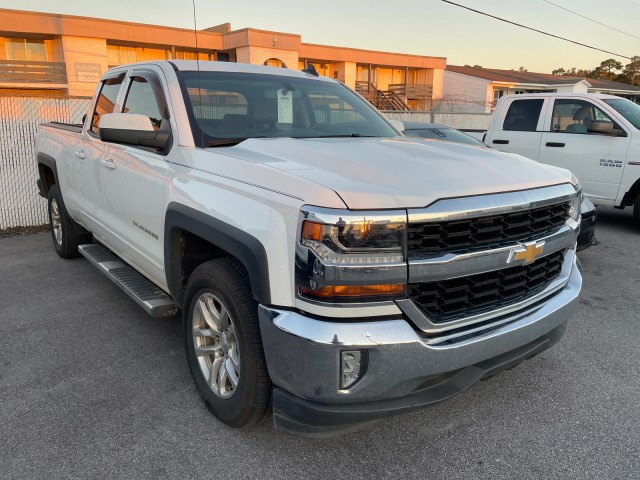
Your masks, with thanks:
M 171 132 L 154 130 L 151 119 L 135 113 L 107 113 L 98 124 L 100 140 L 137 147 L 166 150 L 170 146 Z

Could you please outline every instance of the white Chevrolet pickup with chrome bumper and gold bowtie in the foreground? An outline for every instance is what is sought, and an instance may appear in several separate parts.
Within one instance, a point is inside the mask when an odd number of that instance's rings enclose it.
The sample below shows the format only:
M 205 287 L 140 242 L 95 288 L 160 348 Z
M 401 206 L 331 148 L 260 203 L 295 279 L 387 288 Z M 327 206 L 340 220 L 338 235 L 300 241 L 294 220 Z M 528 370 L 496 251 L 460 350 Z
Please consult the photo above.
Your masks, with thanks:
M 83 125 L 41 126 L 37 162 L 57 253 L 153 316 L 182 310 L 217 418 L 272 406 L 319 437 L 556 343 L 582 284 L 581 193 L 566 170 L 403 137 L 314 73 L 117 67 Z

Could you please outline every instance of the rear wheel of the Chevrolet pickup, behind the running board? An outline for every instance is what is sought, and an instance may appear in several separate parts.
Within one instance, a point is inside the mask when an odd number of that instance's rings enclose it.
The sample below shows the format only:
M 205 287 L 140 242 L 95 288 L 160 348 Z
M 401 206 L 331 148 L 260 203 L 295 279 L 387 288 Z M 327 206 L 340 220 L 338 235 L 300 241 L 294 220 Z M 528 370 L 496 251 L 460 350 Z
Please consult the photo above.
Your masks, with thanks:
M 91 243 L 91 234 L 71 219 L 57 185 L 49 187 L 47 200 L 53 247 L 61 258 L 78 257 L 78 245 Z

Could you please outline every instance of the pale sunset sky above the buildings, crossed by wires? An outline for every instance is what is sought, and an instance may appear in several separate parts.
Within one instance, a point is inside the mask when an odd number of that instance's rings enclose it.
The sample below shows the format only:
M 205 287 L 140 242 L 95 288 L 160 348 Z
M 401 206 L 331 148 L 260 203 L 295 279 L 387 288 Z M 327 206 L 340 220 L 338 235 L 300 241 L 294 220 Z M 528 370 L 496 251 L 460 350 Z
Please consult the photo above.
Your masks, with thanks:
M 544 0 L 453 0 L 577 42 L 627 57 L 640 55 L 640 0 L 552 0 L 616 32 Z M 553 39 L 440 0 L 195 0 L 197 28 L 231 23 L 294 33 L 305 43 L 446 57 L 452 65 L 547 72 L 591 69 L 602 60 L 629 60 Z M 0 8 L 63 13 L 193 28 L 192 0 L 0 0 Z M 0 25 L 2 20 L 0 19 Z M 635 36 L 635 37 L 634 37 Z

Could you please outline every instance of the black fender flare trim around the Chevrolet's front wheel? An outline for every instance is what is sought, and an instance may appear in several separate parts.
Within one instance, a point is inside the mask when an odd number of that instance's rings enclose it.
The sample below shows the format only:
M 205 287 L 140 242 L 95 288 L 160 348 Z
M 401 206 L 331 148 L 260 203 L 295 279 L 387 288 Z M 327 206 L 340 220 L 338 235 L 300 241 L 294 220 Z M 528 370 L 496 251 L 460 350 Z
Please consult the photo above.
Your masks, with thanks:
M 186 205 L 171 202 L 164 222 L 164 264 L 167 285 L 176 302 L 183 300 L 180 246 L 181 231 L 189 232 L 224 250 L 244 265 L 251 282 L 253 298 L 271 303 L 269 264 L 262 243 L 247 232 Z

